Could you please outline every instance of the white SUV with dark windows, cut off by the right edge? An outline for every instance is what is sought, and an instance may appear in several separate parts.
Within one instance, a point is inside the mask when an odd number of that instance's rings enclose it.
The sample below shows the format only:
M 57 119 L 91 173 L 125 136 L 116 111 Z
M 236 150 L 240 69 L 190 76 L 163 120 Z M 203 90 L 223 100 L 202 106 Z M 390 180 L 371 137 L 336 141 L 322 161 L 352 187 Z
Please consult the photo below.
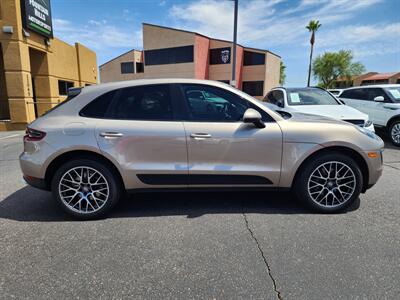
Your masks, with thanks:
M 366 114 L 376 127 L 384 128 L 392 143 L 400 147 L 400 84 L 352 87 L 340 100 Z

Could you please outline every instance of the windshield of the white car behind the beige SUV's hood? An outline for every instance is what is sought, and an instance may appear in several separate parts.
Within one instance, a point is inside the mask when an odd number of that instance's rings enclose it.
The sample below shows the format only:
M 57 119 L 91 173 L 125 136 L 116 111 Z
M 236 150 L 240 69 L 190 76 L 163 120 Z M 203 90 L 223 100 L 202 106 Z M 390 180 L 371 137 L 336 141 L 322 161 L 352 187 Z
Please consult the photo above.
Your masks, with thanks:
M 340 105 L 327 91 L 320 89 L 287 89 L 289 105 Z

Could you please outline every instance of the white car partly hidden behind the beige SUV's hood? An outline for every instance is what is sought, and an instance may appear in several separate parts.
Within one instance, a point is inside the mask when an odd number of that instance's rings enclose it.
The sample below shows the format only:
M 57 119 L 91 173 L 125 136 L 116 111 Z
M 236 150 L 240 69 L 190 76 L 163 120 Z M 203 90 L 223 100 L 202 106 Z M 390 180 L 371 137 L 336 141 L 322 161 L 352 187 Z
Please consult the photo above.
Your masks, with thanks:
M 375 131 L 368 115 L 344 105 L 321 88 L 274 88 L 264 97 L 264 101 L 289 113 L 299 112 L 330 117 Z

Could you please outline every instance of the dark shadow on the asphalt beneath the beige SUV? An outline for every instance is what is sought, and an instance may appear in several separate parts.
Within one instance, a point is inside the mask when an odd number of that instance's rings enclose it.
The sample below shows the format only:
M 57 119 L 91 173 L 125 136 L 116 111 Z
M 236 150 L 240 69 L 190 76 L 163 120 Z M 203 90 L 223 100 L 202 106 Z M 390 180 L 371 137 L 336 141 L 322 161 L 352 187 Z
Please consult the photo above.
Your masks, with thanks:
M 347 209 L 358 209 L 360 200 Z M 121 199 L 107 216 L 138 218 L 206 214 L 312 214 L 290 193 L 277 192 L 157 192 L 133 194 Z M 0 202 L 0 218 L 16 221 L 71 221 L 52 199 L 50 192 L 26 186 Z

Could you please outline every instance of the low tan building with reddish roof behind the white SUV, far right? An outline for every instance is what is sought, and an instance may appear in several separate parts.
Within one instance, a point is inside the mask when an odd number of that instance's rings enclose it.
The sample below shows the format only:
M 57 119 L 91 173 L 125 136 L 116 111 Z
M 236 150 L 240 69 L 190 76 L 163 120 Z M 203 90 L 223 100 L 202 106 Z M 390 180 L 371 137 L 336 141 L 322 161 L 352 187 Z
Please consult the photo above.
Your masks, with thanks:
M 400 84 L 400 72 L 378 73 L 368 72 L 359 76 L 352 76 L 350 79 L 339 78 L 336 80 L 336 88 L 348 88 L 360 85 L 374 84 Z

